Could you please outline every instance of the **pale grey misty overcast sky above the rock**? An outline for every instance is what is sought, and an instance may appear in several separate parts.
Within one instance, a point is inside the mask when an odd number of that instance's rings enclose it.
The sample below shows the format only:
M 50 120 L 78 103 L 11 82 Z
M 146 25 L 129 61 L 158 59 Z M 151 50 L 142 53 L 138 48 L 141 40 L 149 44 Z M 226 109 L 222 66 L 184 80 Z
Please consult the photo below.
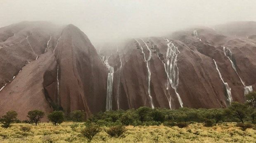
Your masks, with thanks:
M 0 0 L 0 27 L 20 21 L 72 23 L 92 42 L 256 21 L 255 14 L 256 0 Z

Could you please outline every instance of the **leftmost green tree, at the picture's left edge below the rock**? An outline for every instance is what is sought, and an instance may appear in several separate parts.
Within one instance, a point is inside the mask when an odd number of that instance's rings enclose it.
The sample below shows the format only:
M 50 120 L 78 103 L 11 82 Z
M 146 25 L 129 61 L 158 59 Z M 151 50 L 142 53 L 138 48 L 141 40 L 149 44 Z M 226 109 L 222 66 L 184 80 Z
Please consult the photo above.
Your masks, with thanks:
M 2 116 L 1 122 L 3 128 L 11 127 L 11 123 L 17 120 L 17 112 L 16 111 L 8 111 L 5 115 Z

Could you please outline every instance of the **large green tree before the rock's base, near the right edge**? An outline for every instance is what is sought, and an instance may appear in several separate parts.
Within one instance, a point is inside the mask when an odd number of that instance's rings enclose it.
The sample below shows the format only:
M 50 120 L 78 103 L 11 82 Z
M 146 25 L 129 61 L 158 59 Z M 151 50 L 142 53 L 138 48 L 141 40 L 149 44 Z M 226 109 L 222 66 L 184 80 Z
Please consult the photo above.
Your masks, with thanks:
M 248 107 L 239 102 L 232 102 L 226 111 L 229 115 L 238 118 L 242 123 L 244 123 L 244 118 L 247 115 Z

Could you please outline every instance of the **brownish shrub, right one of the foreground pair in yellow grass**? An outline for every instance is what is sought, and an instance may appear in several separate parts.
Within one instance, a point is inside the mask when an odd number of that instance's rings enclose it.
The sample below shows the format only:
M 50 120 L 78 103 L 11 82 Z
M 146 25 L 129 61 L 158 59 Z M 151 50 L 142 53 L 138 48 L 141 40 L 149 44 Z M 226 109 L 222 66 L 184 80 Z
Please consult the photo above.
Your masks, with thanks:
M 120 136 L 123 136 L 123 133 L 127 131 L 126 127 L 123 125 L 117 125 L 114 127 L 110 127 L 109 129 L 105 130 L 107 134 L 111 137 L 118 138 Z

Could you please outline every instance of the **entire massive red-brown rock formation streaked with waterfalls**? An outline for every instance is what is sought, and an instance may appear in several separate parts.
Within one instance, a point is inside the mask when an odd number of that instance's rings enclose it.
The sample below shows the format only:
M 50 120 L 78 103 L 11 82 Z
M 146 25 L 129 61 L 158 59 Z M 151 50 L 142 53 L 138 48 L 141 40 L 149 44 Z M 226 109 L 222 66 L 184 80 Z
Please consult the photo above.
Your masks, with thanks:
M 0 28 L 0 115 L 15 110 L 24 120 L 34 109 L 90 115 L 107 107 L 224 108 L 244 102 L 244 88 L 256 89 L 255 27 L 232 23 L 131 39 L 107 44 L 110 50 L 103 45 L 99 55 L 74 25 Z

